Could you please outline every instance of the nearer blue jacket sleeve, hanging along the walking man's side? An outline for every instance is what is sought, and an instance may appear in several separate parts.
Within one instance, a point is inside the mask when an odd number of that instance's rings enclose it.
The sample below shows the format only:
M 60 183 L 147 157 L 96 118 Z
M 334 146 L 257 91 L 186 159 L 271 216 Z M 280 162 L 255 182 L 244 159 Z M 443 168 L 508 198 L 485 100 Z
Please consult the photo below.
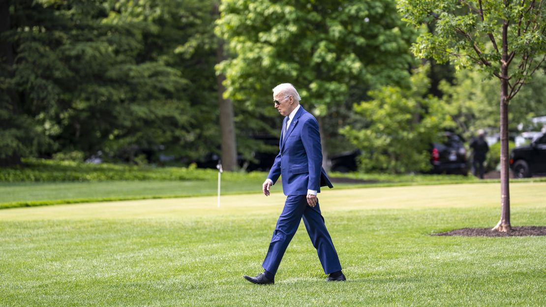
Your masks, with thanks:
M 301 128 L 301 141 L 304 144 L 309 166 L 308 190 L 318 191 L 321 186 L 322 147 L 318 122 L 312 118 L 304 122 Z

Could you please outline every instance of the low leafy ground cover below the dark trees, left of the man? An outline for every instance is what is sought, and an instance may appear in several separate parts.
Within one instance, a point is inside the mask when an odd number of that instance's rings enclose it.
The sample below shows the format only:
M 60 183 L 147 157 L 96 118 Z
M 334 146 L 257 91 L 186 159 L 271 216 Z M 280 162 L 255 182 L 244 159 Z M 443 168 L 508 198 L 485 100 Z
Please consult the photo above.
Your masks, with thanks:
M 26 158 L 23 166 L 0 168 L 0 182 L 20 181 L 108 181 L 108 180 L 210 180 L 216 169 L 181 167 L 128 166 L 121 164 L 89 164 L 75 161 L 54 161 Z M 259 172 L 224 175 L 226 180 L 263 180 Z

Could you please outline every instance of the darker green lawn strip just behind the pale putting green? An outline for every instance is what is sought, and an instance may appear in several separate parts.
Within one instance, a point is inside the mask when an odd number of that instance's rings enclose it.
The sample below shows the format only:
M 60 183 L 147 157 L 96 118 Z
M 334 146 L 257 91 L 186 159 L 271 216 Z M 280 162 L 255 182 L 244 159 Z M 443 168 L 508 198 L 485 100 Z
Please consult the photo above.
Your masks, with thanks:
M 216 175 L 216 174 L 213 174 Z M 222 193 L 256 193 L 261 190 L 265 178 L 256 176 L 239 176 L 236 179 L 222 180 Z M 438 176 L 439 177 L 439 176 Z M 404 184 L 438 184 L 449 183 L 447 180 L 472 180 L 462 176 L 430 178 L 420 175 L 415 178 L 401 176 L 369 177 L 371 186 L 404 185 Z M 213 176 L 215 178 L 215 176 Z M 396 179 L 396 180 L 394 180 Z M 147 180 L 147 181 L 91 181 L 91 182 L 0 182 L 0 209 L 18 206 L 35 206 L 62 203 L 97 202 L 104 200 L 127 200 L 146 198 L 169 198 L 204 196 L 217 193 L 218 181 L 214 180 Z M 370 184 L 337 183 L 336 188 L 370 186 Z M 280 184 L 272 192 L 281 192 Z

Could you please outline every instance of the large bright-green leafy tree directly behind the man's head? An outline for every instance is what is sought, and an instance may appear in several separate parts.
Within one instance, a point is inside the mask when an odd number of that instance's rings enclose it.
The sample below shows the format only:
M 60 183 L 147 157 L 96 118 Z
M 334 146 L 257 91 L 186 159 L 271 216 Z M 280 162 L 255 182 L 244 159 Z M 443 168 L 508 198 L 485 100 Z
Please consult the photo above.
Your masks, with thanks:
M 409 42 L 394 0 L 269 1 L 225 0 L 217 21 L 219 36 L 233 56 L 218 65 L 225 95 L 236 113 L 277 116 L 271 88 L 290 82 L 302 105 L 320 122 L 323 158 L 328 136 L 337 133 L 330 110 L 352 105 L 373 87 L 405 84 Z M 358 88 L 358 95 L 352 95 Z M 348 99 L 355 99 L 348 101 Z M 255 128 L 245 122 L 239 126 Z M 276 120 L 280 127 L 280 119 Z M 328 125 L 328 124 L 331 125 Z M 330 132 L 330 133 L 329 133 Z

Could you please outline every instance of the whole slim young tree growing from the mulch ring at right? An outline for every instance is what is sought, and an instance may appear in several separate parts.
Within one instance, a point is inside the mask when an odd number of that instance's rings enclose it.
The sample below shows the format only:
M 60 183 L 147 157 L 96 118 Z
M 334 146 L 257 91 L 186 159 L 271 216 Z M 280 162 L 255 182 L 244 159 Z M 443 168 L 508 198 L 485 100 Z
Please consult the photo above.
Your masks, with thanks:
M 436 23 L 434 33 L 423 32 L 413 44 L 416 56 L 479 68 L 500 82 L 501 218 L 493 230 L 508 232 L 508 104 L 545 60 L 543 1 L 400 0 L 398 5 L 414 26 Z

